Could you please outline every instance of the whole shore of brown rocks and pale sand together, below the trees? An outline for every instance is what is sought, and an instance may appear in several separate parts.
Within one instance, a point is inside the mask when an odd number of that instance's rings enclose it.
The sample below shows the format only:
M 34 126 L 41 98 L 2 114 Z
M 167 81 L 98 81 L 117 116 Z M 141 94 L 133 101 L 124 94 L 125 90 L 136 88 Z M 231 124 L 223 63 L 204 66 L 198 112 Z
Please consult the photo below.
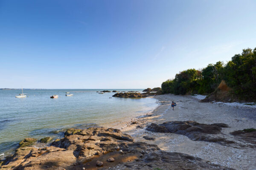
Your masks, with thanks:
M 155 98 L 159 106 L 153 112 L 125 125 L 68 129 L 62 139 L 41 139 L 48 145 L 40 148 L 33 147 L 39 140 L 24 139 L 0 169 L 256 169 L 255 109 L 202 103 L 190 96 Z

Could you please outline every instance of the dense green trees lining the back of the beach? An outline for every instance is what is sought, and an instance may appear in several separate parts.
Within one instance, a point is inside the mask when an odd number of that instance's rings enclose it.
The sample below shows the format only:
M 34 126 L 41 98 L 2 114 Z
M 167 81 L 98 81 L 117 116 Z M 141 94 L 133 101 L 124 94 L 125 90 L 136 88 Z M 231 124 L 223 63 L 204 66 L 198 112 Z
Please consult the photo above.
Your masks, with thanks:
M 222 85 L 220 87 L 220 84 Z M 256 48 L 243 49 L 231 61 L 209 64 L 201 70 L 188 69 L 162 83 L 164 94 L 204 94 L 217 89 L 227 91 L 239 100 L 255 101 L 256 96 Z

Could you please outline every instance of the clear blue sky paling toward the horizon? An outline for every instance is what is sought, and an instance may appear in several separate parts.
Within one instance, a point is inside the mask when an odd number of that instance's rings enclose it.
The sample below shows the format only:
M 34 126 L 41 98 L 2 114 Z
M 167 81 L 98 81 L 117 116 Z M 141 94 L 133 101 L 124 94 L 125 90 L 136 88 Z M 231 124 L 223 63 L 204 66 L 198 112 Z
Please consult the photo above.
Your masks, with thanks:
M 248 47 L 255 0 L 0 0 L 0 88 L 153 88 Z

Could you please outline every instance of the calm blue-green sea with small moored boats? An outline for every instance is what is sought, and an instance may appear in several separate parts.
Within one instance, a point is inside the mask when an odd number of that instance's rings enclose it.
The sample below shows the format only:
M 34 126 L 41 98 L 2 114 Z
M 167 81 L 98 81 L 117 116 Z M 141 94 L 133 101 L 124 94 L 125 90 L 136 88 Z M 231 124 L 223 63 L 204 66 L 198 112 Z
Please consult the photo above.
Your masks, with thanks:
M 156 99 L 110 98 L 105 89 L 0 90 L 0 156 L 6 156 L 26 137 L 41 139 L 63 135 L 69 127 L 111 126 L 143 115 L 157 107 Z M 108 89 L 142 91 L 143 89 Z M 74 94 L 65 96 L 65 92 Z M 50 99 L 57 94 L 58 99 Z

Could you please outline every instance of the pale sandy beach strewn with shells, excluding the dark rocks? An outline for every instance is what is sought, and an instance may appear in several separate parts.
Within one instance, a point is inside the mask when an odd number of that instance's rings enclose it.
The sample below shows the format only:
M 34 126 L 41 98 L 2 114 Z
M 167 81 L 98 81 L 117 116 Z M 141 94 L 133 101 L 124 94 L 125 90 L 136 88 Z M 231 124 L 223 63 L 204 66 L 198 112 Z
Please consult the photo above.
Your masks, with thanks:
M 166 94 L 154 97 L 160 105 L 152 113 L 133 119 L 132 122 L 136 122 L 134 124 L 129 122 L 120 127 L 123 133 L 134 137 L 135 142 L 157 144 L 160 149 L 167 152 L 186 153 L 237 170 L 256 170 L 256 148 L 230 134 L 235 130 L 255 128 L 255 109 L 202 103 L 192 96 Z M 177 103 L 174 110 L 170 105 L 172 101 Z M 214 142 L 192 141 L 186 136 L 175 133 L 145 130 L 151 123 L 188 120 L 204 124 L 225 123 L 229 127 L 221 131 L 221 136 L 236 144 L 225 146 Z M 138 128 L 138 125 L 143 128 Z M 155 140 L 145 140 L 143 136 L 153 137 Z

